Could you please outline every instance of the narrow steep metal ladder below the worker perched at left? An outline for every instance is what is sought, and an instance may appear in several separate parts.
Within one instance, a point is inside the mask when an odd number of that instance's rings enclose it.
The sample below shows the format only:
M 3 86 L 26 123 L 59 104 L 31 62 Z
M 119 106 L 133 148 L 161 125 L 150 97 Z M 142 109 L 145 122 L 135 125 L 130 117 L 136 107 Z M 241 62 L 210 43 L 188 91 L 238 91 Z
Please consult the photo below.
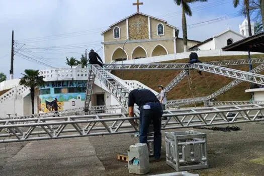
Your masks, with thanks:
M 95 74 L 91 68 L 88 74 L 88 80 L 87 80 L 87 85 L 86 85 L 86 97 L 85 97 L 85 102 L 84 102 L 84 112 L 85 113 L 89 112 L 89 105 L 91 101 L 94 81 L 95 81 Z

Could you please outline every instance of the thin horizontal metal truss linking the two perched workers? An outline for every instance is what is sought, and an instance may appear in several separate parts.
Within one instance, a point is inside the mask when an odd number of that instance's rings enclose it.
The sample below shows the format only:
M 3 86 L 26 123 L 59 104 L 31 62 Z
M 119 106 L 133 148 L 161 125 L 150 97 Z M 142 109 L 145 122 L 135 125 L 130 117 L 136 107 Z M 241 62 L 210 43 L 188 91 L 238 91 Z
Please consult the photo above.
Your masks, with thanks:
M 142 64 L 104 64 L 105 70 L 162 70 L 188 69 L 189 63 L 142 63 Z

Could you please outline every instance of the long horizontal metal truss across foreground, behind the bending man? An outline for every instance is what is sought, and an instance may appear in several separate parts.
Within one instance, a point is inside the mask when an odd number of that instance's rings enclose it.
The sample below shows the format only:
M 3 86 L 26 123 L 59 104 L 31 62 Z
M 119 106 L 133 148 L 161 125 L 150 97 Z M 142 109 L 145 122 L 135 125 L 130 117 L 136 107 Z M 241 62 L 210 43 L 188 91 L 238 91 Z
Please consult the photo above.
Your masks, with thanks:
M 162 130 L 264 121 L 264 105 L 164 111 Z M 128 113 L 0 120 L 0 143 L 138 132 Z M 57 127 L 57 128 L 52 128 Z M 8 129 L 10 133 L 1 133 Z

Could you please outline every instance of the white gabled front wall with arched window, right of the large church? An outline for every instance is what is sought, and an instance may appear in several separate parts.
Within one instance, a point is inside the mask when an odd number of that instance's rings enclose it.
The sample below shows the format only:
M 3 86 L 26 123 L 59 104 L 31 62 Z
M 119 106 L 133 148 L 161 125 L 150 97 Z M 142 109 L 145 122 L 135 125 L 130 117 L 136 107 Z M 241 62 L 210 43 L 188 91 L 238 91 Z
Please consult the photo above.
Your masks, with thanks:
M 234 43 L 234 42 L 237 42 L 239 40 L 244 39 L 244 37 L 229 31 L 229 32 L 215 38 L 215 48 L 221 49 L 221 48 L 227 46 L 227 40 L 228 39 L 231 39 Z

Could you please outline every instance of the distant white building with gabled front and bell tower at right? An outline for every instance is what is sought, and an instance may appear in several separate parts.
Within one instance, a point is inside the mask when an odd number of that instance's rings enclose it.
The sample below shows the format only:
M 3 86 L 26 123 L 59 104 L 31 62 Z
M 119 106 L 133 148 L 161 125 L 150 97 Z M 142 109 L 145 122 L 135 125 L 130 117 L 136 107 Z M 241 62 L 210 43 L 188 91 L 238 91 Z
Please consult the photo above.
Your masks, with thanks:
M 245 19 L 242 25 L 239 25 L 239 32 L 237 33 L 231 29 L 227 29 L 226 31 L 221 32 L 218 35 L 215 35 L 191 48 L 190 51 L 198 51 L 198 50 L 217 50 L 221 49 L 227 45 L 230 45 L 236 41 L 242 40 L 248 37 L 248 23 Z M 254 34 L 254 23 L 251 22 L 251 32 Z

